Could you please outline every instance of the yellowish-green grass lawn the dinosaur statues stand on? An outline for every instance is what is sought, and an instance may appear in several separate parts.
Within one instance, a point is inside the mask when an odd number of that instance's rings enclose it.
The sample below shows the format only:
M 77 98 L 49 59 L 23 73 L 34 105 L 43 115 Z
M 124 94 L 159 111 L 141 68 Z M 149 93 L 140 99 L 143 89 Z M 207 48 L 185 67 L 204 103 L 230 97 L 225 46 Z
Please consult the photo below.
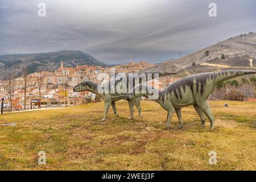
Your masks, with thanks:
M 144 118 L 129 121 L 126 101 L 117 102 L 119 117 L 109 111 L 101 123 L 104 104 L 67 109 L 0 115 L 0 169 L 256 169 L 256 104 L 210 102 L 216 128 L 209 121 L 200 128 L 193 107 L 183 109 L 184 128 L 166 130 L 166 111 L 153 101 L 142 102 Z M 2 126 L 17 123 L 16 126 Z M 46 151 L 46 165 L 38 165 L 38 152 Z M 217 165 L 208 152 L 217 152 Z

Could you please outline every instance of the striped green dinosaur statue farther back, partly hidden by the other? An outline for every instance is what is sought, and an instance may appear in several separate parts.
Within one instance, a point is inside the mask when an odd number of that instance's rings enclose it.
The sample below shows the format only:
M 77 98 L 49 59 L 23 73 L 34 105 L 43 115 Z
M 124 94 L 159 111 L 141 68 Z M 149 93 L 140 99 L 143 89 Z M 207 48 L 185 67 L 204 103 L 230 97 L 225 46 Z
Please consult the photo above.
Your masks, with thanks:
M 169 72 L 164 72 L 164 73 L 160 73 L 160 72 L 144 72 L 145 76 L 146 76 L 146 79 L 148 78 L 148 74 L 151 74 L 151 78 L 154 79 L 154 74 L 155 73 L 158 73 L 159 77 L 160 76 L 166 76 L 166 75 L 174 75 L 176 73 L 169 73 Z M 141 73 L 138 73 L 138 74 L 141 74 Z M 135 85 L 135 83 L 133 82 L 133 86 L 130 86 L 129 87 L 129 73 L 125 74 L 126 76 L 126 90 L 128 92 L 128 90 L 130 88 L 133 88 Z M 134 77 L 133 77 L 134 79 Z M 122 79 L 120 80 L 115 80 L 114 81 L 114 86 L 116 86 L 119 82 L 121 82 Z M 139 80 L 139 83 L 141 83 L 142 80 Z M 138 84 L 139 84 L 138 83 Z M 104 102 L 105 102 L 105 111 L 104 111 L 104 118 L 101 119 L 101 121 L 106 121 L 106 116 L 108 114 L 108 111 L 109 111 L 109 107 L 110 105 L 112 106 L 113 108 L 113 111 L 114 111 L 114 114 L 116 116 L 118 116 L 117 114 L 117 109 L 115 109 L 115 101 L 119 101 L 119 100 L 122 100 L 122 99 L 125 99 L 125 96 L 127 94 L 127 92 L 125 93 L 117 93 L 116 90 L 114 93 L 110 92 L 110 88 L 111 88 L 111 83 L 110 81 L 107 82 L 106 84 L 104 84 L 107 88 L 108 88 L 108 93 L 101 93 L 100 90 L 98 90 L 98 84 L 95 83 L 95 82 L 92 82 L 92 81 L 82 81 L 80 84 L 76 85 L 74 88 L 73 88 L 73 91 L 74 92 L 82 92 L 82 91 L 89 91 L 89 92 L 93 92 L 95 94 L 97 94 L 97 96 L 100 96 Z M 141 104 L 140 104 L 140 101 L 139 101 L 139 98 L 138 99 L 135 99 L 133 101 L 128 101 L 128 104 L 129 104 L 129 109 L 130 109 L 130 117 L 128 119 L 133 119 L 133 112 L 134 112 L 134 105 L 137 107 L 137 110 L 139 112 L 139 116 L 140 117 L 143 117 L 143 115 L 141 114 Z

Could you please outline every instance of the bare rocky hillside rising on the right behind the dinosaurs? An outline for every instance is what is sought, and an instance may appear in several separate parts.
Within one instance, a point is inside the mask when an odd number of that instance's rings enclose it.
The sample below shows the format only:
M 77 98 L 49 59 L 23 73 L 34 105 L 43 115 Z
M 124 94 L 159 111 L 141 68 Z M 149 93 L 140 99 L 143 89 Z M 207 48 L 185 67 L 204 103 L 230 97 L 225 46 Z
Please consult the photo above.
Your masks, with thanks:
M 195 63 L 194 66 L 192 64 Z M 167 60 L 146 71 L 200 73 L 224 69 L 256 68 L 256 34 L 234 36 L 181 59 Z M 189 74 L 188 73 L 188 74 Z

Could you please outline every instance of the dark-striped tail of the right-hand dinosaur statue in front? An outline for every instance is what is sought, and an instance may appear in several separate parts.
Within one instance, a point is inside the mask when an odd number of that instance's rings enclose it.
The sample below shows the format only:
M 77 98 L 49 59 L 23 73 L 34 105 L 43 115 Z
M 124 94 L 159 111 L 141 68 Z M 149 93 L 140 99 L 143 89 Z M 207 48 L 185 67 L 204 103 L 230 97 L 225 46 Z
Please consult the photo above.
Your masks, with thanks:
M 214 72 L 211 76 L 214 77 L 214 84 L 218 82 L 226 81 L 231 78 L 235 78 L 242 75 L 250 75 L 256 74 L 256 71 L 253 70 L 228 70 L 228 71 L 221 71 L 221 72 Z

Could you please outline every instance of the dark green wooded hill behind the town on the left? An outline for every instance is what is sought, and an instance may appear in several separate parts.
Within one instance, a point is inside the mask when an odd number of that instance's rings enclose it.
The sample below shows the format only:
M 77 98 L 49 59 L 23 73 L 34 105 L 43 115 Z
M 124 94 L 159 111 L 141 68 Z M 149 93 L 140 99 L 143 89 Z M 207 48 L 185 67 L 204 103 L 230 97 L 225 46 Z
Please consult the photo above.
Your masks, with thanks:
M 29 73 L 54 71 L 60 67 L 61 60 L 64 61 L 65 67 L 76 67 L 76 65 L 84 64 L 106 66 L 106 64 L 84 52 L 73 50 L 2 55 L 0 56 L 0 78 L 4 78 L 10 72 L 20 76 L 24 67 L 28 68 Z

